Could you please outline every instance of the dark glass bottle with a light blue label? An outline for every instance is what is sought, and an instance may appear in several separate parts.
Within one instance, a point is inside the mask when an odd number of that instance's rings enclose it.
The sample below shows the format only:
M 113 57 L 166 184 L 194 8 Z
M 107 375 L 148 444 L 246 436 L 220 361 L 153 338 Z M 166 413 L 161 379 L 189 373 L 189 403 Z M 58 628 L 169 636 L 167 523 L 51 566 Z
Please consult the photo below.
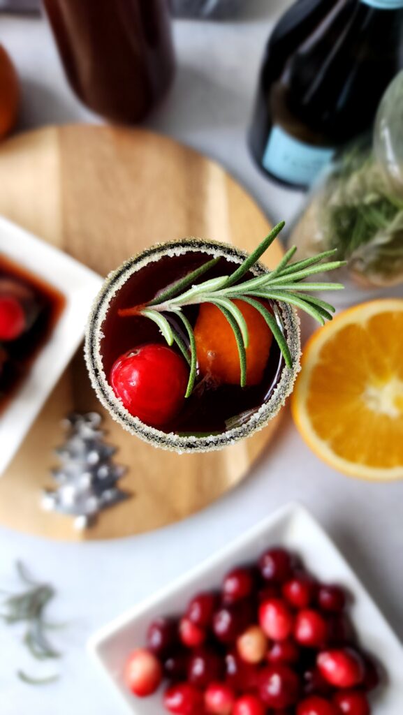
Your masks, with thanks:
M 298 0 L 271 35 L 250 146 L 258 166 L 307 188 L 372 126 L 403 67 L 403 0 Z

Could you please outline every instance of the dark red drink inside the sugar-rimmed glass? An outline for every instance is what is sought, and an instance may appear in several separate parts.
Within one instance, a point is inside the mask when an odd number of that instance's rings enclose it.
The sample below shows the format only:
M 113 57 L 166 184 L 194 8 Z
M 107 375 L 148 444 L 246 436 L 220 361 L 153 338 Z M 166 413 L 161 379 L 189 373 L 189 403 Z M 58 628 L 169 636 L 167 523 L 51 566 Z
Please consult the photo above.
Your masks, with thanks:
M 203 252 L 187 252 L 181 256 L 163 257 L 149 263 L 127 280 L 110 302 L 107 317 L 102 324 L 102 332 L 105 337 L 101 343 L 101 355 L 107 378 L 113 363 L 123 353 L 138 345 L 152 342 L 166 345 L 164 337 L 154 322 L 141 316 L 120 317 L 117 311 L 120 308 L 140 305 L 151 300 L 157 292 L 195 270 L 208 259 L 208 255 Z M 220 275 L 229 275 L 235 270 L 235 267 L 233 262 L 221 258 L 220 262 L 200 281 Z M 248 274 L 244 280 L 251 277 L 252 274 Z M 191 324 L 195 325 L 198 306 L 185 307 L 184 313 Z M 168 314 L 165 313 L 165 315 Z M 175 327 L 180 330 L 180 326 L 176 322 Z M 182 336 L 183 340 L 187 342 L 183 332 Z M 217 387 L 209 385 L 205 380 L 200 380 L 200 383 L 195 386 L 193 395 L 185 400 L 185 406 L 180 415 L 172 423 L 164 425 L 161 428 L 162 431 L 180 434 L 224 432 L 228 429 L 227 420 L 247 410 L 256 410 L 268 400 L 278 382 L 282 368 L 281 352 L 276 341 L 273 340 L 263 380 L 259 385 L 246 388 L 241 388 L 238 385 L 219 385 Z

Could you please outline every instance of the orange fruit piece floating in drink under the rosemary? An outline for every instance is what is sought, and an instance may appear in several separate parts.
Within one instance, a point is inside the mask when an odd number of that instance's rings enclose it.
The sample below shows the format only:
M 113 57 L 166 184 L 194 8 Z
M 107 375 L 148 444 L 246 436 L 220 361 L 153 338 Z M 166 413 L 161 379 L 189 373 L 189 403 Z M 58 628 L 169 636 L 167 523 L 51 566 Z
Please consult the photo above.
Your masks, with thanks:
M 249 333 L 246 385 L 258 385 L 263 379 L 273 335 L 256 308 L 243 300 L 233 302 L 241 310 Z M 194 332 L 200 373 L 218 383 L 239 385 L 241 366 L 238 346 L 232 327 L 220 309 L 213 303 L 202 303 Z

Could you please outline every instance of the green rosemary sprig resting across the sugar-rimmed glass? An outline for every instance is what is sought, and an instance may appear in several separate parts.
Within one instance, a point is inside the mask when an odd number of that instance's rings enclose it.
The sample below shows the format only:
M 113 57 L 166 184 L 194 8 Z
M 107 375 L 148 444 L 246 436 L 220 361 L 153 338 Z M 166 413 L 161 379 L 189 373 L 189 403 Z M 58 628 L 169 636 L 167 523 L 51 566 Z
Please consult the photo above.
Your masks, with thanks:
M 321 325 L 324 325 L 325 320 L 332 319 L 331 314 L 334 312 L 334 307 L 324 302 L 324 300 L 319 300 L 319 298 L 309 295 L 309 292 L 318 290 L 340 290 L 344 286 L 341 285 L 341 283 L 328 282 L 305 282 L 301 286 L 301 282 L 311 275 L 334 270 L 341 265 L 345 265 L 344 261 L 321 263 L 322 260 L 334 255 L 335 250 L 325 251 L 312 258 L 291 263 L 291 258 L 296 252 L 296 247 L 293 247 L 286 252 L 286 255 L 283 256 L 274 270 L 253 277 L 250 280 L 243 281 L 242 283 L 239 282 L 256 264 L 271 243 L 273 243 L 284 225 L 285 222 L 283 221 L 276 225 L 261 244 L 258 245 L 256 250 L 254 250 L 231 275 L 210 278 L 210 280 L 196 284 L 195 281 L 204 275 L 205 272 L 213 268 L 220 260 L 219 258 L 214 258 L 178 280 L 178 282 L 167 287 L 166 290 L 160 292 L 159 295 L 145 305 L 121 308 L 118 311 L 121 317 L 142 315 L 143 317 L 149 318 L 160 328 L 168 345 L 173 345 L 174 342 L 178 345 L 190 367 L 188 388 L 185 395 L 187 398 L 192 394 L 195 385 L 197 360 L 193 327 L 190 325 L 188 318 L 183 314 L 183 307 L 208 302 L 213 303 L 213 305 L 218 307 L 223 315 L 225 315 L 233 329 L 238 346 L 241 366 L 241 387 L 245 387 L 246 385 L 246 349 L 248 347 L 249 337 L 246 320 L 241 310 L 239 310 L 238 306 L 233 302 L 234 300 L 243 300 L 243 302 L 252 305 L 261 313 L 268 327 L 270 327 L 271 332 L 273 332 L 275 340 L 278 342 L 278 346 L 283 353 L 283 358 L 288 368 L 292 367 L 292 358 L 286 338 L 276 321 L 276 317 L 274 317 L 272 312 L 268 310 L 260 300 L 256 299 L 263 298 L 264 300 L 277 304 L 284 302 L 301 308 L 301 310 L 304 310 L 314 317 Z M 173 315 L 183 323 L 185 332 L 188 335 L 189 346 L 185 345 L 178 330 L 173 327 L 170 320 L 168 320 L 164 314 L 168 314 L 168 316 Z

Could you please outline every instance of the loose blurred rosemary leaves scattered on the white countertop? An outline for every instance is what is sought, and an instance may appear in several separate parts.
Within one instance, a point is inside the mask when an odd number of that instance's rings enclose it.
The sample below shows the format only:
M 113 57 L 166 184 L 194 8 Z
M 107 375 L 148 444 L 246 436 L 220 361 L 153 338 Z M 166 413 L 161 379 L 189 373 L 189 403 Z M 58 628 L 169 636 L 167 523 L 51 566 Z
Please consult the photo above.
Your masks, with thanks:
M 54 598 L 54 588 L 47 583 L 34 581 L 21 561 L 17 561 L 16 569 L 27 588 L 25 591 L 11 594 L 4 599 L 0 618 L 9 625 L 26 623 L 24 644 L 35 659 L 44 661 L 59 658 L 61 654 L 49 643 L 45 634 L 47 628 L 54 627 L 44 618 L 45 609 Z M 58 678 L 54 675 L 44 679 L 35 679 L 22 671 L 18 671 L 18 676 L 29 684 L 51 682 Z

